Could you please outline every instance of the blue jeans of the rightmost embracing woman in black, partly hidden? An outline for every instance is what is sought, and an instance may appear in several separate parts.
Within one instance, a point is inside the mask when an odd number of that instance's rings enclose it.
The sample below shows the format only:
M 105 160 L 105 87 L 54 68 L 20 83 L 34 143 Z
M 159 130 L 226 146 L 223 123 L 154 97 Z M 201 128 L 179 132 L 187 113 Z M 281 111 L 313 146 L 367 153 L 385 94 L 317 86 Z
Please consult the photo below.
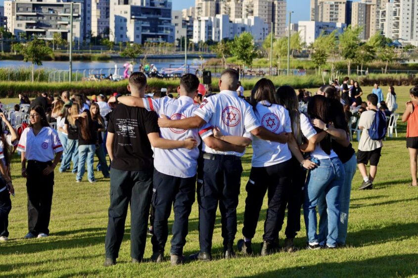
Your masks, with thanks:
M 343 163 L 345 178 L 341 186 L 340 192 L 340 221 L 338 222 L 338 244 L 345 244 L 347 238 L 347 227 L 348 227 L 348 209 L 350 207 L 350 193 L 351 193 L 351 181 L 353 180 L 354 174 L 357 170 L 357 159 L 354 154 L 350 160 Z M 327 207 L 325 201 L 325 195 L 323 194 L 318 200 L 318 212 L 320 215 L 319 221 L 319 239 L 320 244 L 325 244 L 326 235 L 328 234 L 328 223 L 327 219 Z

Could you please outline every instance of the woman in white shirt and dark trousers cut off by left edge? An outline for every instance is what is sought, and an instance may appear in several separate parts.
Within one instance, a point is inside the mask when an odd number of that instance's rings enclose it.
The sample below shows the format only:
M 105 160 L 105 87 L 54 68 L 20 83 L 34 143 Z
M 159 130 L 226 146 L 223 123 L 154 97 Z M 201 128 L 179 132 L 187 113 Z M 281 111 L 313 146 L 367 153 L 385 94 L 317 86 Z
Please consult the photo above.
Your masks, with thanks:
M 11 148 L 13 141 L 17 139 L 17 134 L 2 112 L 0 112 L 0 118 L 10 130 L 10 134 L 4 134 L 0 121 L 0 241 L 6 241 L 9 236 L 7 227 L 11 210 L 10 194 L 14 196 L 10 174 Z

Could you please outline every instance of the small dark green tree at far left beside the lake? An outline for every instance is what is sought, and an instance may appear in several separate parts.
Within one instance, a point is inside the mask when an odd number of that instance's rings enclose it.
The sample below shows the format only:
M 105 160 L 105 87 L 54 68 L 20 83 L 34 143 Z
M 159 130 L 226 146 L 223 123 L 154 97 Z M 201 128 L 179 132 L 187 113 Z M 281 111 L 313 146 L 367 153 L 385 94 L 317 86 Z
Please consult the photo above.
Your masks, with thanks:
M 18 52 L 23 55 L 23 61 L 32 63 L 32 82 L 34 81 L 34 66 L 42 66 L 42 60 L 52 51 L 45 45 L 45 41 L 35 38 L 32 41 L 18 47 Z

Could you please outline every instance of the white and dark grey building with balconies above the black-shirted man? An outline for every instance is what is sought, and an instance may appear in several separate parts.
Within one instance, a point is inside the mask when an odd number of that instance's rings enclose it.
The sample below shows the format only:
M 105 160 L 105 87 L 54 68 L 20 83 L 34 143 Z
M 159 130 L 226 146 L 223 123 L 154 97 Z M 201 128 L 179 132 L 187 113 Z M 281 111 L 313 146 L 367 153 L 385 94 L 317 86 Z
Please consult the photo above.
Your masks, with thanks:
M 109 39 L 174 42 L 170 0 L 110 0 Z

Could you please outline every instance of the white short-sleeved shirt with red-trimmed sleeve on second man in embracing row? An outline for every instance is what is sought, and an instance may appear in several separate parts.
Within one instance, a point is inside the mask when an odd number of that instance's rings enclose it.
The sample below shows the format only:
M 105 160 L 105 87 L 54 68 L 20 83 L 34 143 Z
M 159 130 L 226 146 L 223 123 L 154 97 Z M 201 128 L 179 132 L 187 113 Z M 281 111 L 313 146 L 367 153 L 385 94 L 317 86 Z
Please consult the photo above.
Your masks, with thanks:
M 146 110 L 155 111 L 158 115 L 164 114 L 170 119 L 193 117 L 193 112 L 197 109 L 193 99 L 188 96 L 180 96 L 178 99 L 166 96 L 159 99 L 143 98 L 142 100 Z M 162 138 L 176 141 L 194 138 L 200 144 L 197 128 L 161 128 L 160 130 Z M 198 148 L 192 150 L 186 148 L 173 150 L 155 148 L 154 167 L 158 172 L 166 175 L 190 178 L 196 175 L 198 157 Z

